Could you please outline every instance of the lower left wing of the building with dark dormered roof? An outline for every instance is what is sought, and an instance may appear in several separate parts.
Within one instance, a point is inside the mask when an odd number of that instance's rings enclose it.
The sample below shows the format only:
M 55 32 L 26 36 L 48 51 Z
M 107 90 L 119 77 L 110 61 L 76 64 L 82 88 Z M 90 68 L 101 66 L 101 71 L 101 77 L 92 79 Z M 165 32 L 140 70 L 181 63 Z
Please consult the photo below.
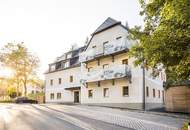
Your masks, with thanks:
M 73 103 L 80 102 L 79 53 L 85 47 L 74 49 L 58 57 L 49 65 L 45 74 L 45 101 Z

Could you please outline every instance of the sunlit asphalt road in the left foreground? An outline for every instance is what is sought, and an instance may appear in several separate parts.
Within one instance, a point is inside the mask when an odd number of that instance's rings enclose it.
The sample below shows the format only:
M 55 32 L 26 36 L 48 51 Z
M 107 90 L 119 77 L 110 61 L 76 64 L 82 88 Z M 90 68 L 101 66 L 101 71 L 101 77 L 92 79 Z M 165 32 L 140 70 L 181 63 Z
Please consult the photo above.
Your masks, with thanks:
M 40 105 L 0 104 L 0 130 L 129 130 Z

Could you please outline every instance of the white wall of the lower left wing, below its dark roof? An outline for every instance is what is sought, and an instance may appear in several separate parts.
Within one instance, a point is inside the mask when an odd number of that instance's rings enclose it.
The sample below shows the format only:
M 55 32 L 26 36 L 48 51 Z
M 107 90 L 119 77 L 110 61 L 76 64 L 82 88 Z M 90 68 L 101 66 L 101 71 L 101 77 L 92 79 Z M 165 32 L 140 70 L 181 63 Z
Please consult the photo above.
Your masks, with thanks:
M 73 81 L 70 82 L 70 77 L 73 77 Z M 65 69 L 45 75 L 46 88 L 45 97 L 46 102 L 60 102 L 60 103 L 72 103 L 74 102 L 74 91 L 78 90 L 66 90 L 66 88 L 80 87 L 80 67 L 74 67 L 71 69 Z M 61 79 L 61 83 L 59 83 Z M 51 85 L 51 80 L 53 84 Z M 61 93 L 61 98 L 57 98 L 57 94 Z M 51 94 L 54 94 L 54 98 L 51 99 Z

